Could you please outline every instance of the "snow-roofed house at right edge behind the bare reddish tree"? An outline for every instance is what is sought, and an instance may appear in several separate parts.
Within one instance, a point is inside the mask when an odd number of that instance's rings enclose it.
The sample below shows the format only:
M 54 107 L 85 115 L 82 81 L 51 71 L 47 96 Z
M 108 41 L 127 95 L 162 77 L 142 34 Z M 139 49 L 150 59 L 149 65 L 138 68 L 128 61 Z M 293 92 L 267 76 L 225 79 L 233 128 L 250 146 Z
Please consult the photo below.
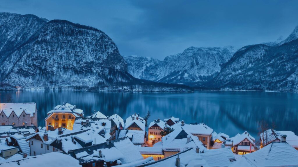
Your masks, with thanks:
M 260 134 L 260 146 L 263 148 L 264 146 L 267 146 L 271 142 L 274 141 L 281 141 L 281 137 L 283 135 L 286 135 L 286 141 L 288 144 L 290 144 L 292 147 L 298 150 L 298 136 L 295 135 L 294 132 L 291 131 L 276 131 L 274 129 L 268 129 L 265 132 Z

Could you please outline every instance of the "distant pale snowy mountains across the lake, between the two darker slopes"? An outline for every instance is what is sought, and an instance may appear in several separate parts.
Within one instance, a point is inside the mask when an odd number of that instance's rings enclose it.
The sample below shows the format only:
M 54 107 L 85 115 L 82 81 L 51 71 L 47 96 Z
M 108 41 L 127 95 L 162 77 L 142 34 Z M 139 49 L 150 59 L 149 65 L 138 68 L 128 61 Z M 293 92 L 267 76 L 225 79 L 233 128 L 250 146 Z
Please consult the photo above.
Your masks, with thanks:
M 125 60 L 128 72 L 136 78 L 200 85 L 212 79 L 234 52 L 233 47 L 190 47 L 183 53 L 167 56 L 164 61 L 139 56 L 125 56 Z

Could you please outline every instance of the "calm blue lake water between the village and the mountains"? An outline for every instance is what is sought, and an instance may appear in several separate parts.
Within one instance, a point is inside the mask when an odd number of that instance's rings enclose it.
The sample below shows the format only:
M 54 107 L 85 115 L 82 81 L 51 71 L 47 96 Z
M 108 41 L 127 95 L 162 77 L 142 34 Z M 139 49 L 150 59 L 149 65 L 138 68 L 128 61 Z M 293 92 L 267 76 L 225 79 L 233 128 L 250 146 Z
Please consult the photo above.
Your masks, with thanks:
M 285 92 L 225 92 L 198 91 L 194 93 L 115 93 L 72 91 L 3 91 L 1 102 L 8 94 L 13 102 L 35 102 L 38 126 L 44 126 L 46 113 L 63 102 L 83 109 L 85 116 L 94 110 L 106 116 L 116 113 L 123 119 L 131 114 L 145 116 L 150 122 L 157 118 L 175 116 L 186 123 L 204 122 L 217 133 L 230 136 L 247 130 L 254 137 L 259 122 L 275 122 L 277 130 L 298 134 L 298 94 Z

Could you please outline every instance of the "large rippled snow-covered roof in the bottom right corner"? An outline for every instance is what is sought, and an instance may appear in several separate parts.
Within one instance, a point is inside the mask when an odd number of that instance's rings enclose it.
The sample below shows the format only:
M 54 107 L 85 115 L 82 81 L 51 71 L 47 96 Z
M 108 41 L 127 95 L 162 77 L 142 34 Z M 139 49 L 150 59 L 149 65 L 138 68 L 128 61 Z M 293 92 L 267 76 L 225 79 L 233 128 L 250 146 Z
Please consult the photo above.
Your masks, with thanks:
M 260 150 L 243 155 L 231 167 L 298 166 L 298 151 L 287 142 L 272 142 Z

